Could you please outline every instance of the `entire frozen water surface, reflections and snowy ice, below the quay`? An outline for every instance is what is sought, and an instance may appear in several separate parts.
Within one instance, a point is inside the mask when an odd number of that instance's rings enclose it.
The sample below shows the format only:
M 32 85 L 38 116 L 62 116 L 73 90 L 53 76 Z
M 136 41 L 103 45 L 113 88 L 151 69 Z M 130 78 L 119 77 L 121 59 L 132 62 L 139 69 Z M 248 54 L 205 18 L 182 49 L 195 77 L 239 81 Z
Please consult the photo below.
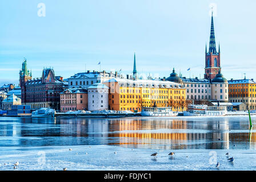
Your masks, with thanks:
M 0 170 L 255 170 L 255 139 L 243 116 L 0 117 Z

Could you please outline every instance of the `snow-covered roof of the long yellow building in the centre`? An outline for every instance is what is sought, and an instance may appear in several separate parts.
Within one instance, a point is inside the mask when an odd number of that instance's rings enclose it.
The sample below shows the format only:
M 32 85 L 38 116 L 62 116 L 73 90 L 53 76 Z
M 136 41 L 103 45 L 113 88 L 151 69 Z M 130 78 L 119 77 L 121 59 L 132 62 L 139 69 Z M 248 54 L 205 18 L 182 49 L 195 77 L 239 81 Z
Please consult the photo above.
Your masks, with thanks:
M 118 82 L 119 86 L 183 88 L 182 84 L 162 80 L 130 80 L 124 78 L 111 78 L 105 82 Z

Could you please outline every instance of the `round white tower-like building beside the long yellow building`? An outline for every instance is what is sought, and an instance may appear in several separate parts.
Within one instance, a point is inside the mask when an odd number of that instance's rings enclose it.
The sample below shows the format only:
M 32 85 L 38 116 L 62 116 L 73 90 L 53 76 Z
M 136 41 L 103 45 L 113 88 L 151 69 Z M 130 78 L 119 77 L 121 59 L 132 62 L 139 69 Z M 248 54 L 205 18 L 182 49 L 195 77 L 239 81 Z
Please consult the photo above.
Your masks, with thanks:
M 109 88 L 106 85 L 93 84 L 87 90 L 89 111 L 109 109 Z

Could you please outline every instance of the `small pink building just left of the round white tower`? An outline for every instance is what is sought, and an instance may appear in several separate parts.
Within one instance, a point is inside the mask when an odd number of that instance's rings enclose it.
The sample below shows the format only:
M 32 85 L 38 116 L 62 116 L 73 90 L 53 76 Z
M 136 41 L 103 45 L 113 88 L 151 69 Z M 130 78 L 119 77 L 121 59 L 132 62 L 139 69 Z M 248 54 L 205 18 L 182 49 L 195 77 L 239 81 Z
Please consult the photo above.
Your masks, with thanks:
M 88 96 L 86 89 L 66 89 L 60 94 L 61 111 L 87 110 Z

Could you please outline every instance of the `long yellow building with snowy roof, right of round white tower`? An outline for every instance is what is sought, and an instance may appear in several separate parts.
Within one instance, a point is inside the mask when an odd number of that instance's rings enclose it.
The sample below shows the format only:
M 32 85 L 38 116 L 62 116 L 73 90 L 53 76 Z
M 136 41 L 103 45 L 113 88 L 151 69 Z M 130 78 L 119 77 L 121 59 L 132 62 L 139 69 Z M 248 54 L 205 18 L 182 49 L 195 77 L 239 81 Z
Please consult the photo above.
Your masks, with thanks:
M 182 84 L 161 80 L 112 78 L 109 86 L 109 109 L 141 111 L 142 107 L 167 107 L 186 110 L 186 89 Z

